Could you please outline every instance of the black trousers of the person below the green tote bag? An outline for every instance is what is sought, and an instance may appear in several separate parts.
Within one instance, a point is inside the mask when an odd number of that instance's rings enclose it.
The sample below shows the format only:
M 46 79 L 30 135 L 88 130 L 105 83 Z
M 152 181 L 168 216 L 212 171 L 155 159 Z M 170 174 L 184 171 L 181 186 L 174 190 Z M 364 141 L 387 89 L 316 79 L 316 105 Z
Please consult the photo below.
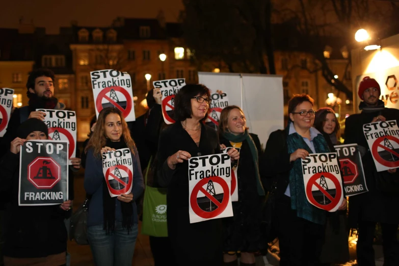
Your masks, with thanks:
M 176 264 L 169 237 L 150 236 L 150 248 L 154 258 L 154 266 Z

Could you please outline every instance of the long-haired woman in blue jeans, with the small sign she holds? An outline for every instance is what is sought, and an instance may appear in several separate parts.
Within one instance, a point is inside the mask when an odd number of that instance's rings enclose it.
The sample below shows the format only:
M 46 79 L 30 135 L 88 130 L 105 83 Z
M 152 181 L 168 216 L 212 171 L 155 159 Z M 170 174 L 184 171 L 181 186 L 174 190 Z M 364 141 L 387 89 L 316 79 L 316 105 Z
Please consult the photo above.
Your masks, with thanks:
M 118 109 L 104 108 L 100 112 L 86 151 L 84 185 L 91 195 L 87 231 L 95 264 L 130 266 L 139 222 L 135 200 L 143 193 L 144 183 L 136 145 Z M 105 177 L 103 167 L 110 156 L 116 157 L 115 164 Z M 124 191 L 128 187 L 130 193 Z

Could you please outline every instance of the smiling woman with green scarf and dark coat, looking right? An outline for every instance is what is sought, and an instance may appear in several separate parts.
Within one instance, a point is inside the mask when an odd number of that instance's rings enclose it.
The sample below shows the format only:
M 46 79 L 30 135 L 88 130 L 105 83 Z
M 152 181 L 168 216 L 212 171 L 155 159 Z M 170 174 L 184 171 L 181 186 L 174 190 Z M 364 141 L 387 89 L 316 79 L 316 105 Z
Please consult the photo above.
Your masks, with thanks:
M 225 265 L 237 265 L 235 253 L 241 251 L 241 265 L 255 265 L 254 252 L 267 248 L 260 230 L 265 196 L 258 170 L 260 141 L 257 135 L 248 132 L 244 112 L 235 105 L 220 114 L 219 138 L 224 148 L 240 148 L 237 176 L 231 189 L 237 190 L 238 201 L 232 202 L 234 216 L 223 219 L 223 260 Z

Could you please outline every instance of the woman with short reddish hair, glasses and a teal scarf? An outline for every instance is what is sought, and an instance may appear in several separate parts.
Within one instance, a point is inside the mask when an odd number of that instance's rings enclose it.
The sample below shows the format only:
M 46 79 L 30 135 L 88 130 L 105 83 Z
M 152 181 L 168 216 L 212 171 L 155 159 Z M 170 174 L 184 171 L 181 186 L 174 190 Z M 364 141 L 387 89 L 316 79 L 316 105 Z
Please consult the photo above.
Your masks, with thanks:
M 262 177 L 275 180 L 281 266 L 320 263 L 327 211 L 308 202 L 301 167 L 301 159 L 310 153 L 330 152 L 323 135 L 312 127 L 314 114 L 309 95 L 294 95 L 288 102 L 287 127 L 272 132 L 259 163 Z M 344 200 L 339 209 L 346 206 Z

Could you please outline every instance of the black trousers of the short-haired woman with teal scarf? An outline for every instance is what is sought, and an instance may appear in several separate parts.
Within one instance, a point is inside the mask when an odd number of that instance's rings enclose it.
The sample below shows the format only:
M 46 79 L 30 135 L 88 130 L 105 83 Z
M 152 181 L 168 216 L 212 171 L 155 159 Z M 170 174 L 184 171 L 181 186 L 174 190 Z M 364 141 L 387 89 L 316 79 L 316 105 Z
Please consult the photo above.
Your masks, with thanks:
M 297 216 L 291 200 L 282 196 L 276 202 L 280 266 L 320 265 L 325 238 L 325 225 L 315 224 Z

